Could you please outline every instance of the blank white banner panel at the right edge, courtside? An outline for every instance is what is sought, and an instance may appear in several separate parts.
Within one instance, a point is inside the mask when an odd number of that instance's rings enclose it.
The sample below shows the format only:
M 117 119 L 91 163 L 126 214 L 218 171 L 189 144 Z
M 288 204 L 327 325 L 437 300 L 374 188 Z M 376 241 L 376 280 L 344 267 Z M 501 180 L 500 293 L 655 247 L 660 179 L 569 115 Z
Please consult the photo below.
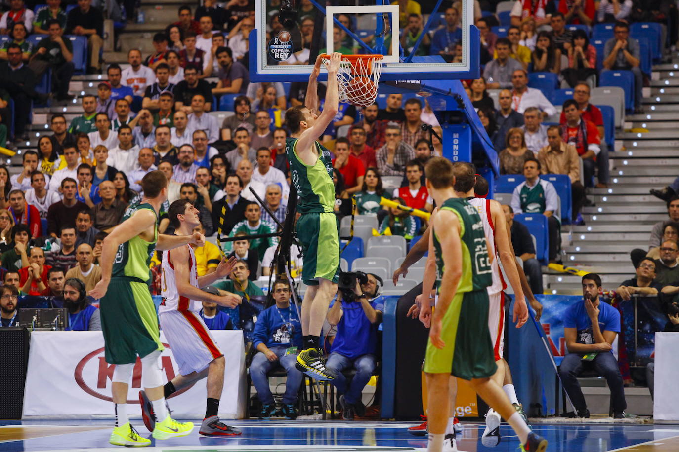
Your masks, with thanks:
M 679 421 L 679 392 L 676 388 L 679 375 L 679 333 L 655 333 L 655 394 L 653 419 Z M 674 424 L 674 422 L 672 424 Z

